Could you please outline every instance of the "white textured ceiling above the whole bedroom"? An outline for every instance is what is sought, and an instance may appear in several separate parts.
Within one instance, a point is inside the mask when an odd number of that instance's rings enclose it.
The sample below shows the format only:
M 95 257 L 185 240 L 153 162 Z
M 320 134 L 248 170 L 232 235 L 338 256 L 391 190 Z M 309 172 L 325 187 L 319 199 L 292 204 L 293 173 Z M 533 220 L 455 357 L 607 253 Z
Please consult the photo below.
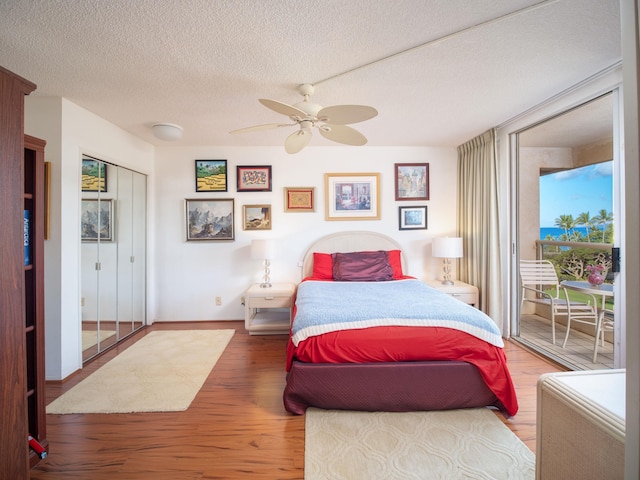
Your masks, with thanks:
M 457 146 L 620 59 L 618 0 L 0 2 L 1 66 L 155 144 L 169 122 L 178 145 L 282 145 L 229 131 L 312 83 L 379 111 L 369 145 Z

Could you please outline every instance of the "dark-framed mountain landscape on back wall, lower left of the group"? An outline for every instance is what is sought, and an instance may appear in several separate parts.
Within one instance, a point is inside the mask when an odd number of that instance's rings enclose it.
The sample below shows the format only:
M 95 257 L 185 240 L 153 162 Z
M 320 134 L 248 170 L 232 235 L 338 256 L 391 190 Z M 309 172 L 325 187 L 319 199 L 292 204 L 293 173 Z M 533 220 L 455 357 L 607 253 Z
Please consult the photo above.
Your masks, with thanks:
M 187 241 L 233 240 L 233 198 L 186 199 Z

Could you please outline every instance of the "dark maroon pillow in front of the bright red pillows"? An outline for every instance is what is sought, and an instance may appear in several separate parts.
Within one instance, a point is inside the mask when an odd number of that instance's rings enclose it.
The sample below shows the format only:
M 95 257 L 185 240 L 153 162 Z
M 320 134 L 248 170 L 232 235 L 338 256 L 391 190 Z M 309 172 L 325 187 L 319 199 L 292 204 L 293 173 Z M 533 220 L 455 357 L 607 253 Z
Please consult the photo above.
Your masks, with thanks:
M 378 252 L 334 253 L 333 279 L 340 282 L 384 282 L 393 280 L 389 254 Z

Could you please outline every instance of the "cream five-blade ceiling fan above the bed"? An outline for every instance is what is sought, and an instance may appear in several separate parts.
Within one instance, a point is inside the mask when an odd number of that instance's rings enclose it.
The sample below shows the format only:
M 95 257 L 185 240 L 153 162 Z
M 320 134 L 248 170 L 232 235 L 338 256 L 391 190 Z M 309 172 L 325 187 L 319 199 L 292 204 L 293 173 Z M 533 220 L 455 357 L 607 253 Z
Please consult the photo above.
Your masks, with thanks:
M 378 115 L 378 111 L 375 108 L 367 107 L 366 105 L 335 105 L 322 108 L 320 105 L 309 101 L 309 96 L 313 94 L 313 91 L 313 85 L 308 83 L 299 85 L 298 92 L 300 92 L 304 100 L 295 105 L 287 105 L 286 103 L 266 98 L 259 99 L 260 103 L 265 107 L 286 115 L 293 123 L 255 125 L 234 130 L 230 133 L 247 133 L 298 125 L 300 129 L 289 135 L 284 142 L 284 148 L 287 153 L 298 153 L 306 147 L 311 141 L 311 129 L 313 127 L 320 131 L 320 135 L 334 142 L 346 145 L 364 145 L 367 143 L 364 135 L 348 125 L 364 122 L 375 117 Z

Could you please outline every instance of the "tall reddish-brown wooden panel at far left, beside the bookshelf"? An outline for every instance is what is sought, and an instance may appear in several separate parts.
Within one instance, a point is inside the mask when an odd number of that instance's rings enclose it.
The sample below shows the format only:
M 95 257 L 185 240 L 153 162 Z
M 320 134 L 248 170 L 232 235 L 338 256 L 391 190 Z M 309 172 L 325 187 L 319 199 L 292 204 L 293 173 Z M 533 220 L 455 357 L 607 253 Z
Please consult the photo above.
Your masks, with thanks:
M 0 477 L 27 479 L 23 232 L 24 95 L 35 84 L 0 67 Z

